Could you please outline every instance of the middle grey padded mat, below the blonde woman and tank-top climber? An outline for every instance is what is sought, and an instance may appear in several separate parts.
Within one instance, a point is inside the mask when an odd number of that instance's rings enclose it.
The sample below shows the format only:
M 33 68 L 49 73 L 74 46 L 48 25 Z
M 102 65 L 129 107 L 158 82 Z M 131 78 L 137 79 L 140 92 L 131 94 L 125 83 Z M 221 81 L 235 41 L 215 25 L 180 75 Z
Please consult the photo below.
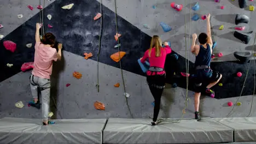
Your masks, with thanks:
M 104 143 L 217 143 L 233 142 L 231 128 L 210 118 L 154 127 L 150 119 L 109 118 L 103 131 Z

